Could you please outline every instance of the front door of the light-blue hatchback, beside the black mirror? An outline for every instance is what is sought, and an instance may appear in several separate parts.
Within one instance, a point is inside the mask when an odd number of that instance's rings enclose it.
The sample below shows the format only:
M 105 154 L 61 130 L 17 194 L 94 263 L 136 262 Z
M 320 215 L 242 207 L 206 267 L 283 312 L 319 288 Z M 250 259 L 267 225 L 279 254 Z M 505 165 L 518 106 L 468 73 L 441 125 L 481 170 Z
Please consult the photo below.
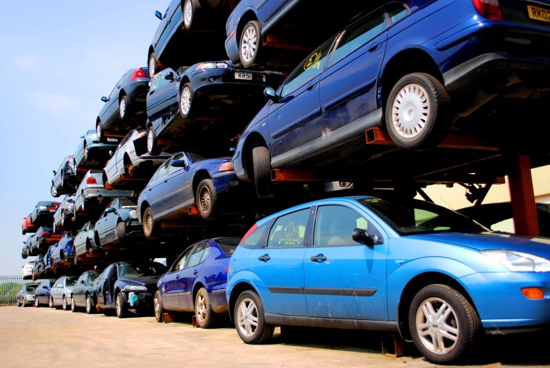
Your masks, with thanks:
M 377 235 L 381 244 L 355 242 L 356 228 Z M 319 206 L 304 257 L 309 317 L 387 321 L 386 251 L 370 218 L 342 205 Z

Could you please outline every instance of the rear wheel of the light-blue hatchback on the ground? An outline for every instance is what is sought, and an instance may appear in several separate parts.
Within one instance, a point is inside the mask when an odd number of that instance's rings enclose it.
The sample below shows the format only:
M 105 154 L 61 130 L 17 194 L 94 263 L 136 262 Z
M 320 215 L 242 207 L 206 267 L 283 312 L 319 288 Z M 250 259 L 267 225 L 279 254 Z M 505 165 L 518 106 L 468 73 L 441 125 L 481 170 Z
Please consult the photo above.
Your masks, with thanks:
M 265 323 L 263 303 L 256 292 L 245 290 L 236 299 L 236 332 L 247 344 L 261 344 L 273 335 L 274 326 Z

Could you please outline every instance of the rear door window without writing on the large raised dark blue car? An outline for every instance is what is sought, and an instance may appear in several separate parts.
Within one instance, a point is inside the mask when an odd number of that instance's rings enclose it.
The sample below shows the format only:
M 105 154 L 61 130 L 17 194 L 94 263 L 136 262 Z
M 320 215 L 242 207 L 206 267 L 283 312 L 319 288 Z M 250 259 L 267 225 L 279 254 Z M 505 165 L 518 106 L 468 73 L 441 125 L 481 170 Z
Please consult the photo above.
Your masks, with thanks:
M 332 64 L 342 60 L 356 49 L 362 47 L 365 43 L 377 34 L 386 29 L 386 21 L 381 10 L 365 16 L 357 23 L 351 25 L 344 33 L 336 45 L 336 50 L 332 57 Z

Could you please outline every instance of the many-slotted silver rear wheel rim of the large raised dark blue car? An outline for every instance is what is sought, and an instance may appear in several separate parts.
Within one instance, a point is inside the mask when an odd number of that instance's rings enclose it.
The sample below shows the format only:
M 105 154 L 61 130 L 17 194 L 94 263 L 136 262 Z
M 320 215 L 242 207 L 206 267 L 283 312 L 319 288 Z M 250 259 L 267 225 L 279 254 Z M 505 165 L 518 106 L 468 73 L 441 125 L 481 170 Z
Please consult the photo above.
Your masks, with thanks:
M 428 92 L 419 84 L 407 84 L 393 100 L 392 124 L 395 132 L 404 138 L 420 135 L 430 117 Z

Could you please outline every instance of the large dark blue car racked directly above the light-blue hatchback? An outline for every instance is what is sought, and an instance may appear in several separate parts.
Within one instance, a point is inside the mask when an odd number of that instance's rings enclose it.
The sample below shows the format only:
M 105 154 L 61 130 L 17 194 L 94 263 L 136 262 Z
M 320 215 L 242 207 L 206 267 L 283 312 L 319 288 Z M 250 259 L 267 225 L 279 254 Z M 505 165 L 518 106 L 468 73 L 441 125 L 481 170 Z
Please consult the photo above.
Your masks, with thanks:
M 540 78 L 550 71 L 550 23 L 529 9 L 544 6 L 498 4 L 393 1 L 348 25 L 276 91 L 265 90 L 270 101 L 234 153 L 239 179 L 254 181 L 258 196 L 270 197 L 271 168 L 364 162 L 369 128 L 385 124 L 397 146 L 426 150 L 463 117 L 478 128 L 486 103 L 542 97 L 533 88 L 550 86 Z M 511 74 L 521 77 L 506 82 Z

